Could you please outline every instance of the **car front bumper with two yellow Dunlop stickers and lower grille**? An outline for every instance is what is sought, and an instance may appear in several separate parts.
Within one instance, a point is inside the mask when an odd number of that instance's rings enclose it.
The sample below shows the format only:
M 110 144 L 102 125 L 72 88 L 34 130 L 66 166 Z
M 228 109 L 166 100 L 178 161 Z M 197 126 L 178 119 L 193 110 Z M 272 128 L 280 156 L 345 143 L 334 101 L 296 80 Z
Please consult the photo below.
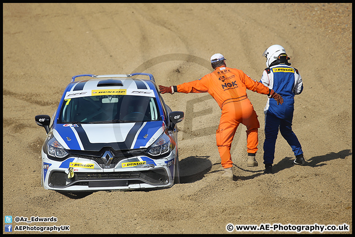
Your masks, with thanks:
M 63 192 L 169 188 L 174 184 L 175 164 L 176 151 L 160 159 L 123 159 L 112 168 L 85 158 L 54 161 L 42 152 L 42 186 Z

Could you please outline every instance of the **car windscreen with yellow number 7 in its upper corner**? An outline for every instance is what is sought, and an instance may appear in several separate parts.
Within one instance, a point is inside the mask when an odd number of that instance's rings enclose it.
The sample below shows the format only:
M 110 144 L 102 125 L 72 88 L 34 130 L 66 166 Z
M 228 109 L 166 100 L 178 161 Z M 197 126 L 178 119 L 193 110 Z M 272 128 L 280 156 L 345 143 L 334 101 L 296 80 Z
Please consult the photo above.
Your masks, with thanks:
M 113 123 L 161 120 L 156 99 L 98 95 L 65 99 L 58 123 Z

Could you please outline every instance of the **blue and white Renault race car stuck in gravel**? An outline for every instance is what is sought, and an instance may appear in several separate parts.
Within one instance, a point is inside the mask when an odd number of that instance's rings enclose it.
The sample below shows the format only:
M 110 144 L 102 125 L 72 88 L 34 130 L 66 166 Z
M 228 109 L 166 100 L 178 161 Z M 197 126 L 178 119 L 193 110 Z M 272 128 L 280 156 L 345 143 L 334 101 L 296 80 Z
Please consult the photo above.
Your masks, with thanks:
M 47 133 L 42 186 L 62 192 L 169 188 L 179 183 L 176 124 L 183 118 L 164 103 L 151 74 L 74 76 L 52 118 L 35 117 Z

